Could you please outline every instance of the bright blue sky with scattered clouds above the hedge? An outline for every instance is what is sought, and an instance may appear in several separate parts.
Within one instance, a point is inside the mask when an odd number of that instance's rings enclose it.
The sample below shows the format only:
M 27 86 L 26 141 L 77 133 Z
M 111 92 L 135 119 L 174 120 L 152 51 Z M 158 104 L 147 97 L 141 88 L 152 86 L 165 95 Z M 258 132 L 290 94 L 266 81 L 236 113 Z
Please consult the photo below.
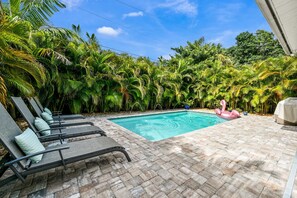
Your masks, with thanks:
M 94 33 L 103 49 L 132 56 L 174 55 L 172 47 L 201 37 L 235 44 L 244 31 L 271 31 L 255 0 L 62 0 L 51 19 L 56 27 L 80 25 L 82 36 Z

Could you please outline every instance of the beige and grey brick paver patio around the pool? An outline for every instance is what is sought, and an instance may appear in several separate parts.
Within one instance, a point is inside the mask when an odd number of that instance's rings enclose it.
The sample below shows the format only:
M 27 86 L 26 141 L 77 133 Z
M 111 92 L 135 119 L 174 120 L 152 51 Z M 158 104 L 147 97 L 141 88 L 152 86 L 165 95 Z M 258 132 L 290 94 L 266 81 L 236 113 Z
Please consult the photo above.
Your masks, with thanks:
M 125 146 L 132 162 L 107 154 L 12 182 L 0 197 L 281 197 L 297 150 L 297 128 L 270 116 L 243 116 L 159 142 L 102 115 L 89 119 Z

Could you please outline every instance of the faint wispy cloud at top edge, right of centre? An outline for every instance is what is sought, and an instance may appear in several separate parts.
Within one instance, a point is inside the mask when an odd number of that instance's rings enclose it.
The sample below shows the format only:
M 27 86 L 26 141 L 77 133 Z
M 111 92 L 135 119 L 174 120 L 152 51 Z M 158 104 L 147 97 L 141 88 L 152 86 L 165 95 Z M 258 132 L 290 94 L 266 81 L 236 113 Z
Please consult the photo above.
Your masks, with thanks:
M 188 16 L 196 16 L 198 7 L 189 0 L 166 0 L 165 3 L 158 5 L 159 8 L 168 8 L 176 13 L 185 14 Z

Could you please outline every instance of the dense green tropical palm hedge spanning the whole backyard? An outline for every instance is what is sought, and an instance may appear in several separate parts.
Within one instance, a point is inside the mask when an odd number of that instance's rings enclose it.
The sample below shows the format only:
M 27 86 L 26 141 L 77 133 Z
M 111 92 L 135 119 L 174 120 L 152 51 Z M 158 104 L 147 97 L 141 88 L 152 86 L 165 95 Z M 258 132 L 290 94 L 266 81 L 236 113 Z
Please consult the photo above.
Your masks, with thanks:
M 69 113 L 191 107 L 272 113 L 297 91 L 297 58 L 271 32 L 243 32 L 223 48 L 203 38 L 172 48 L 169 60 L 103 50 L 94 34 L 49 27 L 58 0 L 0 1 L 0 101 L 37 95 Z

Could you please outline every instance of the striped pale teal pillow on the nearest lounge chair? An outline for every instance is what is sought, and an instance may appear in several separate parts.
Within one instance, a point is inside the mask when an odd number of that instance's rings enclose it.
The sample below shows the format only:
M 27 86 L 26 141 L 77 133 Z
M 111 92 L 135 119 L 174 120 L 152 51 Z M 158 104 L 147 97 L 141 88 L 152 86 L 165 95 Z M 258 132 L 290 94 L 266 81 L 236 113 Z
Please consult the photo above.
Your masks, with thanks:
M 15 141 L 26 155 L 45 150 L 44 146 L 40 143 L 36 134 L 30 128 L 26 129 L 21 135 L 16 136 Z M 31 157 L 30 159 L 33 163 L 38 163 L 42 159 L 42 156 L 42 154 L 36 155 L 34 157 Z

